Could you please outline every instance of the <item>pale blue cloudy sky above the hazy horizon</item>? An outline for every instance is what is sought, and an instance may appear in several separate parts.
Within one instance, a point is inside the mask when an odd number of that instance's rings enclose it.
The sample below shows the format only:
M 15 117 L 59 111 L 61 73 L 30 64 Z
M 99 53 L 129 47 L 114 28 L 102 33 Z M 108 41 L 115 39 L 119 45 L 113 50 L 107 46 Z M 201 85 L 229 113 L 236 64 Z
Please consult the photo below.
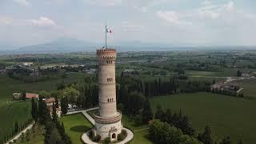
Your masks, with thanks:
M 0 45 L 57 38 L 112 44 L 255 46 L 255 0 L 0 0 Z

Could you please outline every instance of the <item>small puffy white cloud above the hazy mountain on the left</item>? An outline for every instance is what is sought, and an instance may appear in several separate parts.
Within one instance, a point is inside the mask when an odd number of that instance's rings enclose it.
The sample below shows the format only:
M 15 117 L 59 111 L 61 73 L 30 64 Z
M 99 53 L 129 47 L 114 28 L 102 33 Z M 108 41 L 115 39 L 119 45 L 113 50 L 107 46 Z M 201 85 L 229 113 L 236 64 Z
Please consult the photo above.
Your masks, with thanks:
M 33 26 L 46 26 L 46 27 L 57 26 L 53 20 L 47 17 L 40 17 L 39 19 L 29 19 L 26 22 Z

